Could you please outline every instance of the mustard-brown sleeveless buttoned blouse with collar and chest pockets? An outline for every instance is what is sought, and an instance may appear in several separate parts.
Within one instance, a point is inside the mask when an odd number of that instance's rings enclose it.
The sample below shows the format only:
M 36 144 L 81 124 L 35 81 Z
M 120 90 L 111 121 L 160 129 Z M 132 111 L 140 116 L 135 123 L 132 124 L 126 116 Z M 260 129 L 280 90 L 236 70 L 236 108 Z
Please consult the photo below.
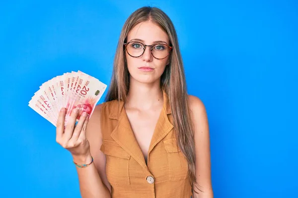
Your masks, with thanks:
M 112 100 L 103 103 L 103 143 L 100 150 L 106 155 L 106 175 L 112 186 L 112 198 L 192 196 L 187 160 L 177 147 L 172 123 L 171 108 L 163 92 L 163 109 L 152 136 L 146 164 L 123 102 Z

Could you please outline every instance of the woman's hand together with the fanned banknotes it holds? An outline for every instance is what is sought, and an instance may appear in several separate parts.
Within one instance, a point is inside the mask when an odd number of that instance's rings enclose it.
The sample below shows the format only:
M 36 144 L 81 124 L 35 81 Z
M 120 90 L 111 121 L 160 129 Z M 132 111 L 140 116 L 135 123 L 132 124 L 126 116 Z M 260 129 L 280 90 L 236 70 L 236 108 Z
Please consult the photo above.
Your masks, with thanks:
M 56 126 L 56 141 L 78 162 L 90 161 L 86 126 L 106 87 L 88 74 L 72 71 L 43 83 L 29 101 L 33 110 Z

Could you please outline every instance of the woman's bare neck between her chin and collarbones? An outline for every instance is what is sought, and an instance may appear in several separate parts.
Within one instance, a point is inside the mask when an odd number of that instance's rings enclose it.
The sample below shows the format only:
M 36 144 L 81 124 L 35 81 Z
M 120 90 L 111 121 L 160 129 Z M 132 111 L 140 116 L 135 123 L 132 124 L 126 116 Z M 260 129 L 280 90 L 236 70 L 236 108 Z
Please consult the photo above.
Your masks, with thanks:
M 163 103 L 163 94 L 160 82 L 140 83 L 131 78 L 130 88 L 125 106 L 141 110 L 151 109 L 152 106 Z

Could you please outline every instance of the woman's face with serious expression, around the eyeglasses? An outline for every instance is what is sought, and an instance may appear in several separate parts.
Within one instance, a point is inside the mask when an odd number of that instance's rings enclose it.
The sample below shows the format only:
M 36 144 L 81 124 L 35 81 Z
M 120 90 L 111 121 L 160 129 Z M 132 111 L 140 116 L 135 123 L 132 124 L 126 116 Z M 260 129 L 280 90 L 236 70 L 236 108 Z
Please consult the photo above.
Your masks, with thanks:
M 156 24 L 146 21 L 137 24 L 127 36 L 127 43 L 136 41 L 144 45 L 166 44 L 169 45 L 168 35 Z M 137 44 L 136 48 L 140 48 Z M 160 49 L 160 46 L 156 46 Z M 160 81 L 166 65 L 169 63 L 169 55 L 164 59 L 155 58 L 149 46 L 143 55 L 132 57 L 126 50 L 126 60 L 131 80 L 141 83 L 154 83 Z

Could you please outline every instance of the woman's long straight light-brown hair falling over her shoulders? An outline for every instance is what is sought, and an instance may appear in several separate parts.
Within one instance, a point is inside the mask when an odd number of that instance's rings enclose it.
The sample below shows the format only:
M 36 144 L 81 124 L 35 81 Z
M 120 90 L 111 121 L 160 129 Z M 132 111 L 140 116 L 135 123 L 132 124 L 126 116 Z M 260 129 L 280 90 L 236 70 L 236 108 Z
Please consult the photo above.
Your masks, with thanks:
M 169 98 L 177 145 L 188 161 L 190 183 L 192 186 L 197 186 L 194 130 L 190 118 L 186 80 L 178 38 L 172 21 L 159 8 L 150 6 L 141 7 L 134 11 L 126 20 L 117 45 L 112 79 L 105 101 L 114 99 L 126 101 L 130 86 L 130 74 L 127 68 L 123 44 L 126 42 L 129 31 L 137 24 L 145 21 L 151 21 L 165 31 L 169 37 L 170 46 L 173 47 L 169 57 L 169 65 L 165 67 L 161 75 L 160 85 Z

